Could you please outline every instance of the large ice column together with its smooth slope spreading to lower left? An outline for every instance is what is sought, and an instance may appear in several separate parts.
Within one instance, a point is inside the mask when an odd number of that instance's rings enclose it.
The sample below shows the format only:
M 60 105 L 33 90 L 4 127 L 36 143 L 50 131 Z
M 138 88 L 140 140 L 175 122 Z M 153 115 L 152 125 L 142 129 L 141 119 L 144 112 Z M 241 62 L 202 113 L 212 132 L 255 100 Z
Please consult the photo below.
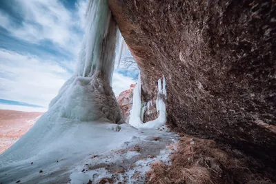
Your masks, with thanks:
M 0 155 L 2 183 L 17 178 L 23 183 L 51 183 L 51 172 L 69 168 L 89 153 L 114 149 L 138 133 L 124 124 L 118 134 L 112 124 L 121 120 L 110 87 L 119 34 L 107 1 L 90 0 L 86 17 L 77 71 L 52 99 L 48 112 Z M 68 161 L 57 163 L 60 159 Z M 43 178 L 39 170 L 48 174 Z

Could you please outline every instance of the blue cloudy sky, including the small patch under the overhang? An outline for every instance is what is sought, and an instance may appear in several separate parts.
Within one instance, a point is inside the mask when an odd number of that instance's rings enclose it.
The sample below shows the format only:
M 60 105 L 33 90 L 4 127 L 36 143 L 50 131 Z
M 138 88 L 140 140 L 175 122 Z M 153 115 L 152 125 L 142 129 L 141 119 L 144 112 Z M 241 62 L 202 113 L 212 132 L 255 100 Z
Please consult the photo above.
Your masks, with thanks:
M 75 72 L 86 0 L 1 0 L 0 109 L 45 112 Z M 116 68 L 115 95 L 137 71 Z

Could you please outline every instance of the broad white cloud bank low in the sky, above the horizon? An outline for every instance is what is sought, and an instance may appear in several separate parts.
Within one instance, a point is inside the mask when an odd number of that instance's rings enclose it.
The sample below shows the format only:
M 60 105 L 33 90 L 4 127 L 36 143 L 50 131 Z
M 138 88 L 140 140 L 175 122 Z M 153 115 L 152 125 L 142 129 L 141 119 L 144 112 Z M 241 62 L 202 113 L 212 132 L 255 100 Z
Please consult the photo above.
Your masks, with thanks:
M 48 107 L 70 74 L 55 63 L 32 55 L 0 50 L 1 99 Z M 8 76 L 8 77 L 6 77 Z

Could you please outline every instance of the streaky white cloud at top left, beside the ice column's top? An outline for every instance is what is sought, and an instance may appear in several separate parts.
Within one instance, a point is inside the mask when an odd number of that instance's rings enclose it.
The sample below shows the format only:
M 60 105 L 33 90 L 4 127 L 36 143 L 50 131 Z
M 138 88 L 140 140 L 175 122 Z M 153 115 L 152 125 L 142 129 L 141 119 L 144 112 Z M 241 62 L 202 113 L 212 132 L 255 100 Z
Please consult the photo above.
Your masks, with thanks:
M 77 56 L 83 36 L 80 31 L 83 30 L 86 1 L 79 0 L 76 11 L 68 10 L 58 0 L 14 1 L 16 5 L 12 8 L 23 17 L 22 24 L 17 25 L 12 17 L 0 12 L 3 28 L 18 39 L 37 44 L 51 41 L 61 51 Z

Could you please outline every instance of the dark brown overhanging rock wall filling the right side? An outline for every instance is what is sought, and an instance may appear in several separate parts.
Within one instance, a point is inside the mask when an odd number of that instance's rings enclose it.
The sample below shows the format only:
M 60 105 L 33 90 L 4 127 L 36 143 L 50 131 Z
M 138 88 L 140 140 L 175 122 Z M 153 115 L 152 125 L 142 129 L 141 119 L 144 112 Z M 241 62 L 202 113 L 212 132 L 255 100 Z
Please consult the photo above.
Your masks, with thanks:
M 276 167 L 275 1 L 108 2 L 146 101 L 166 77 L 168 124 Z

